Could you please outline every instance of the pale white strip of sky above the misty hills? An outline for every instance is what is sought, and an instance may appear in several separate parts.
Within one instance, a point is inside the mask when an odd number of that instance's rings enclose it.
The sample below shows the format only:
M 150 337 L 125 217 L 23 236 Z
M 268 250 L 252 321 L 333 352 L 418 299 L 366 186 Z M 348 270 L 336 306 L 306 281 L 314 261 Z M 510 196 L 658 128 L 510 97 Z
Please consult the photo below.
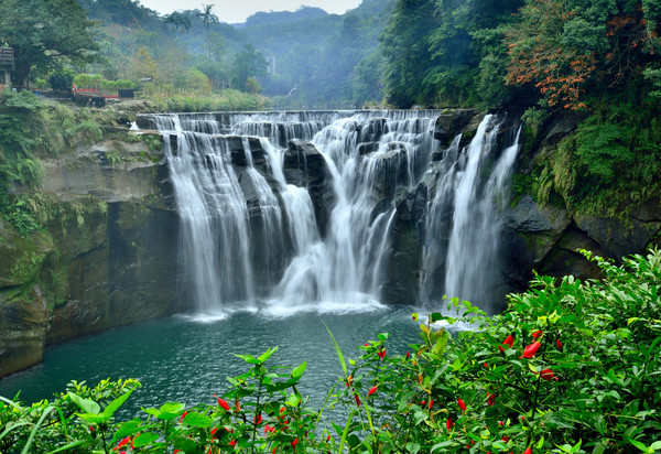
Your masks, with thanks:
M 221 22 L 238 23 L 257 11 L 295 11 L 302 4 L 343 14 L 346 10 L 358 7 L 360 0 L 140 0 L 140 4 L 161 14 L 202 9 L 203 3 L 214 4 L 214 12 Z

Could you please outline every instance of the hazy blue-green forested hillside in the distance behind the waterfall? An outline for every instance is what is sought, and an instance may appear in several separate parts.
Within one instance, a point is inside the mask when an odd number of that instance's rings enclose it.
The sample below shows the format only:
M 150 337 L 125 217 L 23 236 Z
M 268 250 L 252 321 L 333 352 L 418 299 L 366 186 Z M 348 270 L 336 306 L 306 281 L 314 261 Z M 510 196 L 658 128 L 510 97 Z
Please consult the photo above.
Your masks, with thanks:
M 100 25 L 106 63 L 89 71 L 106 77 L 147 72 L 154 80 L 186 87 L 188 82 L 175 78 L 195 68 L 214 88 L 226 88 L 236 85 L 237 55 L 252 45 L 269 62 L 269 74 L 258 82 L 266 96 L 281 97 L 277 107 L 360 107 L 383 97 L 378 36 L 395 0 L 364 0 L 342 15 L 313 7 L 262 11 L 242 24 L 228 24 L 219 8 L 205 23 L 199 9 L 160 15 L 136 0 L 77 1 Z

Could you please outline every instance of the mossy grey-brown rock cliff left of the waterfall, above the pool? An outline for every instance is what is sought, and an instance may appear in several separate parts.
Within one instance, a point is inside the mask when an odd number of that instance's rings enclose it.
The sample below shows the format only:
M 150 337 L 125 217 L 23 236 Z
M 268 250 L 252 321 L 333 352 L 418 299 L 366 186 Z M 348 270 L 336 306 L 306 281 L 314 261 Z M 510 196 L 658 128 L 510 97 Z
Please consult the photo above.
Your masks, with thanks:
M 178 216 L 158 155 L 105 142 L 44 167 L 44 230 L 23 238 L 0 221 L 0 377 L 41 361 L 46 344 L 172 314 L 181 301 Z

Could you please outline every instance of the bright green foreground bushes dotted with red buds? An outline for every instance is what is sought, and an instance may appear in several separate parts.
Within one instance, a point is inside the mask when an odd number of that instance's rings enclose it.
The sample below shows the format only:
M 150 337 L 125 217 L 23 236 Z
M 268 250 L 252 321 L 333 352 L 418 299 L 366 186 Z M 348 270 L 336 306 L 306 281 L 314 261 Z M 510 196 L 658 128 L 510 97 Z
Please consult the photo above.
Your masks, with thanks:
M 1 398 L 0 450 L 651 454 L 661 448 L 661 251 L 621 267 L 593 260 L 603 281 L 537 278 L 495 317 L 449 302 L 463 315 L 431 314 L 405 355 L 389 352 L 387 334 L 356 360 L 335 344 L 342 375 L 325 408 L 344 411 L 330 419 L 299 389 L 305 363 L 270 366 L 273 348 L 238 355 L 248 370 L 217 404 L 166 402 L 129 421 L 115 413 L 134 380 L 73 382 L 32 406 Z M 475 329 L 453 328 L 463 323 Z

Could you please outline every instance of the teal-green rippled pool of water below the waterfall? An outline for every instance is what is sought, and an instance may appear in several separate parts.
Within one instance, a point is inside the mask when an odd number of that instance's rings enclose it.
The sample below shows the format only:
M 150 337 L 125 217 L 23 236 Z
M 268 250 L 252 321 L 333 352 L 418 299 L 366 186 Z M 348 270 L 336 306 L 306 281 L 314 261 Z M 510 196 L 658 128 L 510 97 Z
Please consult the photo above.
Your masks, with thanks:
M 174 316 L 111 329 L 46 349 L 43 364 L 0 380 L 0 396 L 23 401 L 51 399 L 71 380 L 88 385 L 110 378 L 142 382 L 127 402 L 129 411 L 165 401 L 187 404 L 215 402 L 213 394 L 228 389 L 227 377 L 248 370 L 234 354 L 260 355 L 278 346 L 269 363 L 295 367 L 307 361 L 300 387 L 321 408 L 342 367 L 324 323 L 345 357 L 357 358 L 357 346 L 390 333 L 388 354 L 404 354 L 418 343 L 418 325 L 409 306 L 364 307 L 368 312 L 296 313 L 279 317 L 261 311 L 217 317 Z M 124 413 L 126 414 L 126 413 Z

